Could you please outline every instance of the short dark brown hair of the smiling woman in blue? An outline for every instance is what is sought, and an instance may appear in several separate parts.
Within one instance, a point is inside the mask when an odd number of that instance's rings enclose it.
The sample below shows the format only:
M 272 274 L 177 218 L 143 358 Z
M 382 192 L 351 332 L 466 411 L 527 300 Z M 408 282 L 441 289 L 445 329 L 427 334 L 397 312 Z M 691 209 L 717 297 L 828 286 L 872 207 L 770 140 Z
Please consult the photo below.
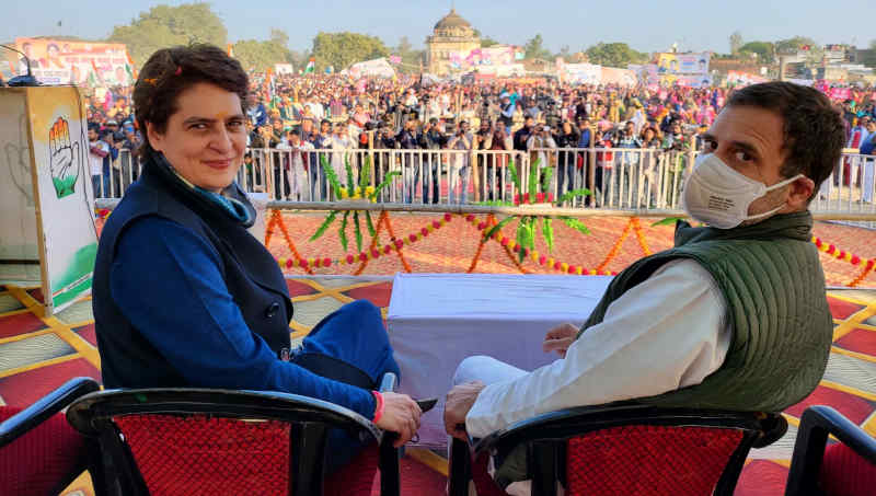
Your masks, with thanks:
M 162 48 L 146 61 L 134 85 L 134 113 L 142 129 L 142 154 L 154 150 L 149 143 L 146 123 L 151 123 L 159 132 L 164 132 L 168 119 L 177 108 L 177 99 L 185 90 L 197 83 L 215 84 L 237 93 L 243 112 L 250 79 L 240 62 L 214 45 L 196 44 Z

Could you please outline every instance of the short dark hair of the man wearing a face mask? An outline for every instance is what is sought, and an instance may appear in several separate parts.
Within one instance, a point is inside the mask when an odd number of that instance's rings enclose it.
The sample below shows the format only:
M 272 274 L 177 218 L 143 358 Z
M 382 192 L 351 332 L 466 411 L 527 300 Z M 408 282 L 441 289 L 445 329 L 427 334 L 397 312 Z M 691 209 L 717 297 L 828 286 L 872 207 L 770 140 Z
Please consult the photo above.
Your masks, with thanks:
M 763 108 L 782 117 L 782 151 L 787 157 L 779 172 L 783 177 L 809 177 L 815 182 L 815 196 L 845 146 L 845 124 L 830 100 L 814 88 L 772 81 L 734 92 L 727 105 Z

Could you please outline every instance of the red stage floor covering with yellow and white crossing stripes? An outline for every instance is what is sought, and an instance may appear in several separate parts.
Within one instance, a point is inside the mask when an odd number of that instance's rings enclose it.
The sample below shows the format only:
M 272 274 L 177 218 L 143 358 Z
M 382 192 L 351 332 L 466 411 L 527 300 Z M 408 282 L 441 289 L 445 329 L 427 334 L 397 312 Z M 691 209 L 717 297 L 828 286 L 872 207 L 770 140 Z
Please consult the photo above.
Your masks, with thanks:
M 303 337 L 324 315 L 344 303 L 367 299 L 385 316 L 392 291 L 388 277 L 291 277 L 295 301 L 293 338 Z M 0 286 L 0 404 L 27 405 L 66 380 L 90 376 L 100 380 L 100 357 L 91 301 L 78 301 L 50 318 L 39 318 L 41 291 Z M 876 435 L 876 290 L 828 291 L 834 322 L 833 348 L 825 379 L 803 403 L 788 408 L 788 434 L 775 445 L 751 452 L 737 495 L 781 495 L 794 446 L 798 418 L 810 404 L 831 405 Z M 430 452 L 408 450 L 402 465 L 403 494 L 441 495 L 446 461 Z M 67 496 L 92 495 L 81 477 Z

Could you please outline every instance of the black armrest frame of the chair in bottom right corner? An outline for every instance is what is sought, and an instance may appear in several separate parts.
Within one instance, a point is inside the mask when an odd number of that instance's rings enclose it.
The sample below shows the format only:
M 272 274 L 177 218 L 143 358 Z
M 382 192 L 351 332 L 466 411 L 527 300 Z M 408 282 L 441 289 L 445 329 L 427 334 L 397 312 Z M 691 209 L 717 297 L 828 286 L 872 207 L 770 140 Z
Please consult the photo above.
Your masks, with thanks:
M 829 435 L 833 435 L 871 463 L 876 463 L 876 439 L 830 406 L 810 406 L 800 417 L 785 488 L 786 496 L 811 494 L 818 486 Z

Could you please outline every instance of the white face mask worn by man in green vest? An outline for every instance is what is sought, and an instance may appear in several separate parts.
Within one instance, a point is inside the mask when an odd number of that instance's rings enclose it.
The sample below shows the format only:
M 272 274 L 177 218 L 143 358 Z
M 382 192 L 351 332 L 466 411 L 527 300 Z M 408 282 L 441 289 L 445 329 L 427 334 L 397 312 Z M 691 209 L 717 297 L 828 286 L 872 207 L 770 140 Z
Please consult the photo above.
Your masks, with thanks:
M 733 229 L 746 220 L 761 219 L 784 208 L 783 204 L 763 214 L 748 215 L 748 208 L 756 199 L 804 175 L 797 174 L 768 187 L 736 172 L 715 153 L 701 154 L 684 181 L 682 204 L 693 219 L 714 228 Z

